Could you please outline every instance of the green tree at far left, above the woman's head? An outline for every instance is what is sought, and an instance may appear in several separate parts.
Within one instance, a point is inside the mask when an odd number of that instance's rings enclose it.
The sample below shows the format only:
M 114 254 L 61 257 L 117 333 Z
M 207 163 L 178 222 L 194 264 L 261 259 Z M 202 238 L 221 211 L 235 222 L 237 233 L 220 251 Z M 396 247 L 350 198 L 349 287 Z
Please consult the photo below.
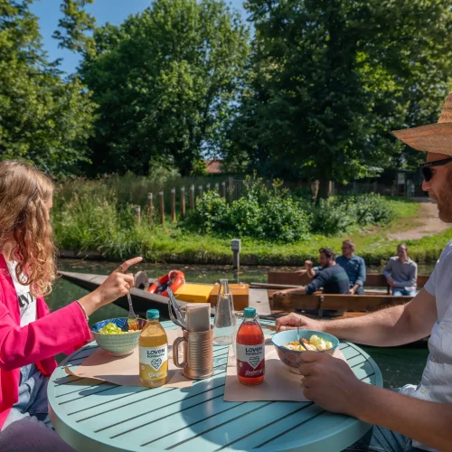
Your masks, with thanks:
M 31 3 L 0 0 L 0 159 L 73 173 L 87 159 L 94 106 L 80 80 L 63 80 L 47 60 Z

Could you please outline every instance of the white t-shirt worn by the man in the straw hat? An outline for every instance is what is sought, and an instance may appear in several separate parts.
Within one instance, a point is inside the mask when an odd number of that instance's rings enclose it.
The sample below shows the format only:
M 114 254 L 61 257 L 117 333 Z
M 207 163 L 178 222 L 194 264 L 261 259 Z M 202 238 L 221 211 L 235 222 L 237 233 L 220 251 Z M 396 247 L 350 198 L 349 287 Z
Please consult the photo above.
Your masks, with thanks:
M 402 394 L 421 400 L 452 403 L 452 240 L 441 252 L 425 290 L 436 298 L 438 319 L 428 339 L 428 360 L 418 386 L 406 385 Z M 413 447 L 435 450 L 413 440 Z

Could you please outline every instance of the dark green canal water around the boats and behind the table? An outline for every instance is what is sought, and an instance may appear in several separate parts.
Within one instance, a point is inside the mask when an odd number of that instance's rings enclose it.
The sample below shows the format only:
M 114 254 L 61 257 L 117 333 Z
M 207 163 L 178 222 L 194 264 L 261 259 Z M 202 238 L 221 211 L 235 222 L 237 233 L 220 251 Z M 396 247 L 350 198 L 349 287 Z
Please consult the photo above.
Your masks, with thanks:
M 94 262 L 75 259 L 61 259 L 59 269 L 80 273 L 96 273 L 107 275 L 115 268 L 118 262 Z M 134 267 L 134 272 L 145 270 L 149 278 L 158 278 L 168 273 L 172 269 L 184 271 L 185 279 L 190 282 L 215 283 L 220 278 L 230 278 L 235 280 L 231 266 L 199 266 L 199 265 L 154 265 L 142 263 Z M 268 270 L 295 270 L 290 267 L 241 267 L 240 282 L 267 282 Z M 419 267 L 419 274 L 430 273 L 433 266 L 426 268 Z M 369 268 L 370 272 L 379 272 L 380 268 Z M 66 306 L 71 301 L 83 297 L 87 290 L 75 286 L 74 284 L 58 279 L 53 287 L 52 294 L 46 297 L 47 304 L 52 310 Z M 99 320 L 112 317 L 125 316 L 127 312 L 114 304 L 104 306 L 99 311 L 89 316 L 89 324 L 92 325 Z M 387 388 L 397 388 L 404 384 L 417 384 L 428 357 L 427 345 L 413 347 L 364 347 L 375 362 L 379 365 L 383 375 L 384 385 Z M 61 356 L 58 358 L 61 359 Z

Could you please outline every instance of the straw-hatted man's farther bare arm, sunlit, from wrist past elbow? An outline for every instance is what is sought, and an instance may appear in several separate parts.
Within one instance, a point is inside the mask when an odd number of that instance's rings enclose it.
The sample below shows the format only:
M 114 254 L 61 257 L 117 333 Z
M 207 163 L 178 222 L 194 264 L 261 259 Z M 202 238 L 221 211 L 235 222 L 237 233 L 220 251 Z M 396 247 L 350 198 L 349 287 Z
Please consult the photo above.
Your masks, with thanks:
M 409 344 L 430 334 L 438 319 L 435 297 L 420 290 L 410 303 L 360 317 L 320 322 L 325 333 L 359 344 L 389 347 Z

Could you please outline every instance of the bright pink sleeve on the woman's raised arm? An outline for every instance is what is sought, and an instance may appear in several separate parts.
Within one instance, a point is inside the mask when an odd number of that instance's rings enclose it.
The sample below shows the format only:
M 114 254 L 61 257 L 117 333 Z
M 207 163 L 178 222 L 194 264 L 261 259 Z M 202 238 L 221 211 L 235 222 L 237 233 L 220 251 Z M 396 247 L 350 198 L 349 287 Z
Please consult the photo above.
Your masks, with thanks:
M 0 304 L 0 368 L 5 371 L 63 353 L 89 338 L 89 326 L 76 302 L 22 327 Z

